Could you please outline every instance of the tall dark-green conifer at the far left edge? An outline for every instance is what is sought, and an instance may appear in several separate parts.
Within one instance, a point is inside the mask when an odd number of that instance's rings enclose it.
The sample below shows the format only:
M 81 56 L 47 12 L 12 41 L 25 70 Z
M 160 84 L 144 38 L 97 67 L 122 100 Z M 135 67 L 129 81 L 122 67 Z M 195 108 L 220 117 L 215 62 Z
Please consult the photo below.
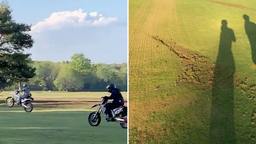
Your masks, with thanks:
M 7 2 L 0 5 L 0 88 L 3 84 L 28 81 L 35 76 L 30 54 L 25 49 L 33 46 L 34 40 L 28 34 L 30 25 L 12 20 Z

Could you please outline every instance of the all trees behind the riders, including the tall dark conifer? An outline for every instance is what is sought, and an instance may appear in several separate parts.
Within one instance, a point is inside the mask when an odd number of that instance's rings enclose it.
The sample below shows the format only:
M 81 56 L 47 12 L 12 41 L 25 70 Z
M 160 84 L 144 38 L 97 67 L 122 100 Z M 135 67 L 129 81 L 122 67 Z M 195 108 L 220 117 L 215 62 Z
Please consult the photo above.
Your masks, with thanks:
M 0 89 L 18 89 L 28 83 L 32 91 L 106 91 L 107 84 L 116 84 L 127 91 L 127 63 L 92 63 L 82 53 L 70 61 L 33 61 L 34 40 L 31 25 L 12 20 L 6 2 L 0 5 Z

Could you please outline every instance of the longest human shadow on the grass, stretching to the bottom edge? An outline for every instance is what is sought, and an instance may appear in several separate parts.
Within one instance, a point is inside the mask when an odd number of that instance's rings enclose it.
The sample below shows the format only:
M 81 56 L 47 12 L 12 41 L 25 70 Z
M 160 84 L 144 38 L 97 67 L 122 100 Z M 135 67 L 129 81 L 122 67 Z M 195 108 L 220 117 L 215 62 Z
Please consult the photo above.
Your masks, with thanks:
M 219 52 L 212 82 L 210 143 L 236 143 L 234 130 L 234 72 L 235 61 L 231 52 L 236 42 L 234 31 L 227 20 L 221 21 Z

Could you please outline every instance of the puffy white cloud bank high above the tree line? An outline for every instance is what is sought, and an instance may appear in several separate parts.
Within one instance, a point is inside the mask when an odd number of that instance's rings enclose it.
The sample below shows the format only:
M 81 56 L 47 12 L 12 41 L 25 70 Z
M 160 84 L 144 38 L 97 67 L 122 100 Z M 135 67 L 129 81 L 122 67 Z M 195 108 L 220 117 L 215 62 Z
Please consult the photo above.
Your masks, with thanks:
M 31 27 L 31 33 L 45 30 L 58 30 L 66 27 L 101 26 L 116 22 L 117 18 L 106 18 L 98 12 L 76 11 L 54 12 L 51 16 Z

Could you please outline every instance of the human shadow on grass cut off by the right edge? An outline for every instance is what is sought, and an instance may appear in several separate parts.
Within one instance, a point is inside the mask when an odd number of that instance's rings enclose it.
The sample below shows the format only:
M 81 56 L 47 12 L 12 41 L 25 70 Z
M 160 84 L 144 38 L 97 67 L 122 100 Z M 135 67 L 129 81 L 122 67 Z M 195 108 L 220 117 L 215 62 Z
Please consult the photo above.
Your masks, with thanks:
M 252 49 L 252 61 L 256 64 L 256 24 L 250 21 L 248 15 L 244 14 L 244 28 Z

